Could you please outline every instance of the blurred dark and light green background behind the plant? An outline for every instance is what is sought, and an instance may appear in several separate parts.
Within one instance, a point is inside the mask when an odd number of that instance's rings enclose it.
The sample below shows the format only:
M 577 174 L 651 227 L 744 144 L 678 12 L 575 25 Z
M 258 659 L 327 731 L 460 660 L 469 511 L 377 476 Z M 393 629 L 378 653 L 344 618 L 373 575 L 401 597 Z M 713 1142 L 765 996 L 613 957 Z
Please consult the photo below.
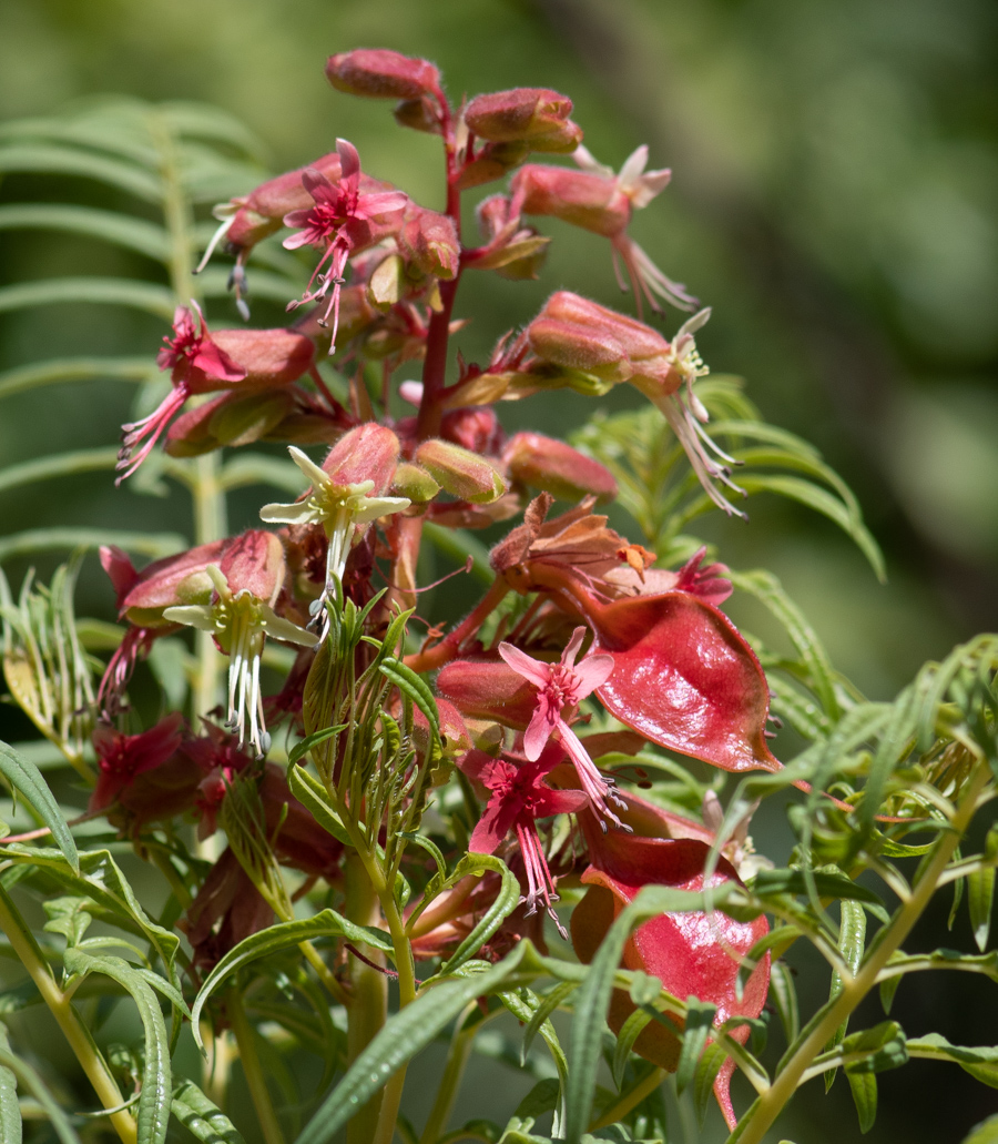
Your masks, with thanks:
M 650 166 L 672 167 L 673 182 L 632 232 L 713 307 L 697 339 L 706 362 L 744 375 L 765 416 L 814 442 L 860 495 L 889 583 L 831 524 L 782 501 L 753 500 L 748 525 L 712 522 L 710 538 L 730 565 L 775 571 L 837 666 L 888 698 L 925 659 L 998 621 L 996 33 L 993 0 L 3 0 L 0 119 L 98 93 L 201 100 L 260 136 L 272 172 L 345 136 L 369 173 L 440 206 L 434 140 L 324 79 L 328 54 L 385 46 L 434 59 L 454 98 L 517 85 L 565 92 L 586 145 L 614 167 L 647 142 Z M 29 198 L 66 194 L 55 178 L 0 183 L 0 200 Z M 561 286 L 630 308 L 604 241 L 548 220 L 540 229 L 556 239 L 541 281 L 468 283 L 466 356 L 487 353 Z M 0 241 L 3 285 L 149 273 L 82 240 Z M 72 352 L 154 353 L 161 324 L 109 313 L 0 313 L 0 371 Z M 227 303 L 210 317 L 235 320 Z M 254 319 L 277 323 L 279 310 L 260 304 Z M 666 333 L 679 320 L 666 316 Z M 2 464 L 111 444 L 131 396 L 87 383 L 6 400 Z M 509 424 L 564 432 L 592 411 L 559 396 L 514 407 Z M 165 529 L 189 527 L 179 494 L 150 501 L 98 474 L 0 493 L 0 531 L 143 527 L 151 510 Z M 233 527 L 250 522 L 252 506 L 240 511 Z M 11 564 L 15 583 L 23 569 Z M 82 611 L 110 615 L 93 561 L 82 594 Z M 24 733 L 17 724 L 6 737 Z M 949 944 L 967 940 L 963 917 L 957 927 Z M 945 932 L 928 942 L 947 944 Z M 982 1006 L 960 982 L 917 998 L 903 986 L 909 1034 L 992 1043 L 988 988 Z M 480 1099 L 485 1112 L 487 1094 L 473 1080 L 468 1089 L 464 1111 Z M 996 1104 L 951 1066 L 921 1062 L 885 1075 L 881 1091 L 868 1138 L 885 1144 L 959 1141 Z M 824 1098 L 812 1083 L 783 1134 L 852 1138 L 849 1105 L 845 1085 Z

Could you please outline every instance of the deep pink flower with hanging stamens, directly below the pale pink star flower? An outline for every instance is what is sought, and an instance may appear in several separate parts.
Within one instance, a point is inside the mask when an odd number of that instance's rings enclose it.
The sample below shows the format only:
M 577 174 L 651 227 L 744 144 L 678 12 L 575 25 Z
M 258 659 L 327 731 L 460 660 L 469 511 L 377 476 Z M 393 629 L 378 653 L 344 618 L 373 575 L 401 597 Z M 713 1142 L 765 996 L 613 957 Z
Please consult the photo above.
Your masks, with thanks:
M 544 750 L 536 760 L 492 758 L 481 750 L 470 750 L 461 761 L 461 769 L 489 792 L 488 805 L 472 831 L 468 849 L 471 853 L 494 853 L 510 831 L 514 831 L 527 872 L 527 893 L 521 899 L 527 913 L 533 914 L 538 901 L 543 901 L 559 932 L 567 938 L 552 905 L 558 895 L 536 825 L 538 818 L 570 815 L 589 802 L 582 791 L 556 791 L 544 781 L 544 776 L 562 757 L 557 748 Z

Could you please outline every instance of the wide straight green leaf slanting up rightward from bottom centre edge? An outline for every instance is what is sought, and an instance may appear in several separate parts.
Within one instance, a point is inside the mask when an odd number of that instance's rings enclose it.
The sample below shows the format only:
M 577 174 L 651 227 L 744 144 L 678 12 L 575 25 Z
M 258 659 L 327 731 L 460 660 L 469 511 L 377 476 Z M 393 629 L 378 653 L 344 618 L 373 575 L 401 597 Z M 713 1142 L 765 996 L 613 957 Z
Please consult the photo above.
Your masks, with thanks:
M 485 972 L 441 982 L 390 1017 L 322 1102 L 295 1144 L 327 1144 L 407 1060 L 447 1027 L 469 1001 L 488 996 L 506 985 L 528 950 L 533 946 L 524 942 Z

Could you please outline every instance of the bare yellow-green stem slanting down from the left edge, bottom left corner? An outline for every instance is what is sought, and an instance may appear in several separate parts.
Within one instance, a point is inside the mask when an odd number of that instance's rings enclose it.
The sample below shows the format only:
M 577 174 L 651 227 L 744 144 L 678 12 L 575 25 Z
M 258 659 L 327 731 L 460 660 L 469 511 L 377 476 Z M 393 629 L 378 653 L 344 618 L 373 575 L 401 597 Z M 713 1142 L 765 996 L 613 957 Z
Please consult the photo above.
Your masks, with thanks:
M 70 1042 L 70 1048 L 80 1062 L 87 1079 L 94 1086 L 94 1091 L 97 1094 L 102 1107 L 120 1107 L 125 1103 L 125 1097 L 109 1072 L 101 1051 L 80 1020 L 77 1010 L 72 1007 L 72 1002 L 56 984 L 41 950 L 2 887 L 0 887 L 0 929 L 7 935 L 11 948 L 31 975 L 42 1001 L 48 1006 L 49 1012 L 55 1017 L 56 1024 Z M 109 1119 L 118 1133 L 121 1144 L 136 1144 L 136 1125 L 128 1112 L 114 1112 Z

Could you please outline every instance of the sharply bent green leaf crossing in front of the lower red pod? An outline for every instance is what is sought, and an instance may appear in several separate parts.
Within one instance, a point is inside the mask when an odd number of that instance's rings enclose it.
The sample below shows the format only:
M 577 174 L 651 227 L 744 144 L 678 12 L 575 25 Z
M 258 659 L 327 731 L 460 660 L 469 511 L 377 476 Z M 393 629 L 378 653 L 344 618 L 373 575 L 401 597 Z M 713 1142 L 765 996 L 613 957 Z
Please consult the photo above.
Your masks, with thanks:
M 575 1020 L 572 1026 L 566 1094 L 568 1111 L 565 1138 L 568 1144 L 578 1144 L 589 1123 L 614 976 L 631 929 L 657 914 L 708 912 L 714 906 L 720 906 L 734 888 L 734 883 L 724 883 L 706 892 L 690 893 L 661 885 L 647 885 L 621 911 L 610 925 L 592 959 L 585 980 L 575 995 Z

